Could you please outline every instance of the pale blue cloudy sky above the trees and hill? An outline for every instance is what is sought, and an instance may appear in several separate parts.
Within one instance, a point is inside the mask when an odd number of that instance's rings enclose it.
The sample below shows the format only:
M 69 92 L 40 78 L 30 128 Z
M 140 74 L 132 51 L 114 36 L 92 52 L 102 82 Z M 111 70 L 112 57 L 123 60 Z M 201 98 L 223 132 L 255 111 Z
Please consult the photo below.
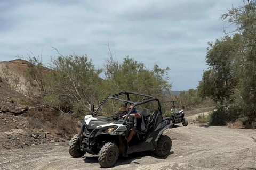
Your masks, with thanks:
M 129 56 L 152 69 L 169 67 L 173 91 L 196 89 L 208 66 L 208 42 L 233 28 L 220 15 L 241 0 L 40 0 L 0 1 L 0 61 L 31 55 L 49 63 L 87 55 L 96 68 Z M 33 54 L 32 54 L 33 53 Z

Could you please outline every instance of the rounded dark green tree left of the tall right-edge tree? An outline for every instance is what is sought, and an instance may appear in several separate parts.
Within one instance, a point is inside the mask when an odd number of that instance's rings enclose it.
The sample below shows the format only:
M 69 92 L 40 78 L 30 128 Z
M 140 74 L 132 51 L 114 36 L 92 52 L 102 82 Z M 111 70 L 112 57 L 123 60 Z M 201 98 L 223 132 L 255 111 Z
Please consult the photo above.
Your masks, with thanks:
M 234 63 L 242 50 L 241 35 L 225 36 L 208 45 L 205 60 L 209 70 L 204 71 L 199 81 L 199 95 L 211 97 L 214 101 L 229 100 L 237 83 Z

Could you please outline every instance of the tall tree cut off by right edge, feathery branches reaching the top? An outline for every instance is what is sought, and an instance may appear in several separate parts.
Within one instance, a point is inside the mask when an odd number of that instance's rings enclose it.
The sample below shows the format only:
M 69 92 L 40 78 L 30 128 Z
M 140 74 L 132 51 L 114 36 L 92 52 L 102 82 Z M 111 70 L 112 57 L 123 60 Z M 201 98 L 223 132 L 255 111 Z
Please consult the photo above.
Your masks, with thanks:
M 232 8 L 221 19 L 236 24 L 242 37 L 241 53 L 235 60 L 238 83 L 234 93 L 234 107 L 245 124 L 256 127 L 256 3 L 244 1 L 244 6 Z

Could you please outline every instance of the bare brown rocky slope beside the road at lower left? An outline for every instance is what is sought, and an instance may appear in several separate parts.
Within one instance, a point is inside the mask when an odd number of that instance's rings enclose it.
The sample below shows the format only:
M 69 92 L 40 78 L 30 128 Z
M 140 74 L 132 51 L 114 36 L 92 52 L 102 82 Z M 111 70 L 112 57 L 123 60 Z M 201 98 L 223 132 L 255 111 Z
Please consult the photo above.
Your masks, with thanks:
M 10 90 L 0 83 L 0 149 L 18 149 L 31 147 L 47 142 L 62 142 L 64 139 L 44 129 L 34 129 L 29 126 L 29 106 L 20 104 L 25 96 Z

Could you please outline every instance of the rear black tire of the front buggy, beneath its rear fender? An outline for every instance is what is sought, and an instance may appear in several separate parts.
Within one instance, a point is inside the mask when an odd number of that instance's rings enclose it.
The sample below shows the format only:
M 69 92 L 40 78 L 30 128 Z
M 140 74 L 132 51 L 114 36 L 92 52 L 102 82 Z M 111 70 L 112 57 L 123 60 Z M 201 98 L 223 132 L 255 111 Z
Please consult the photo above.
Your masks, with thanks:
M 161 135 L 157 141 L 157 147 L 155 148 L 155 154 L 159 157 L 164 157 L 170 153 L 172 148 L 172 140 L 168 136 Z

